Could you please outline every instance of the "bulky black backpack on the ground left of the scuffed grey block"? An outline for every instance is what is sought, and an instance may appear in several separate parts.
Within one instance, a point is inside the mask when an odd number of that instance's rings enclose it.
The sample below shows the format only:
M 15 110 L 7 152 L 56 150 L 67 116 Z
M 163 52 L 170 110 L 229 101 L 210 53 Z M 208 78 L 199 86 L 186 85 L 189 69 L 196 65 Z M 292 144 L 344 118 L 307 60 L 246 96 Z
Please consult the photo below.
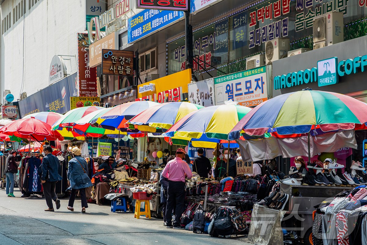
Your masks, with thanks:
M 232 218 L 229 207 L 219 207 L 212 219 L 212 226 L 209 235 L 229 237 L 233 233 Z

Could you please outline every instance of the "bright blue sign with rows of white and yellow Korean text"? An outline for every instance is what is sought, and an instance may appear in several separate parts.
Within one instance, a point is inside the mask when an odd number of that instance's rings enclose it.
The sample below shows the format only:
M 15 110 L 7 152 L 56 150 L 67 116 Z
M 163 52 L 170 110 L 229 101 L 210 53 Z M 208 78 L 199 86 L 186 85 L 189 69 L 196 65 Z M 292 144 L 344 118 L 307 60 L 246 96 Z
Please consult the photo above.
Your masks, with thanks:
M 128 19 L 127 38 L 132 43 L 184 17 L 182 11 L 143 10 Z

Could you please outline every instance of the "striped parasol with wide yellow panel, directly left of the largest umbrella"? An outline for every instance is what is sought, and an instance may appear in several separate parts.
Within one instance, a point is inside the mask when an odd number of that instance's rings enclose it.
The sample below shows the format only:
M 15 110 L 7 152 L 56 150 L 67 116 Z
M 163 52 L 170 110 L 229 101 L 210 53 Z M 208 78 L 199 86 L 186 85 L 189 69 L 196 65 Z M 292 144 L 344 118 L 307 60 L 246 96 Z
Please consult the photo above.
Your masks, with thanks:
M 215 105 L 191 112 L 175 123 L 163 136 L 186 138 L 216 138 L 228 140 L 232 128 L 251 108 L 241 105 Z

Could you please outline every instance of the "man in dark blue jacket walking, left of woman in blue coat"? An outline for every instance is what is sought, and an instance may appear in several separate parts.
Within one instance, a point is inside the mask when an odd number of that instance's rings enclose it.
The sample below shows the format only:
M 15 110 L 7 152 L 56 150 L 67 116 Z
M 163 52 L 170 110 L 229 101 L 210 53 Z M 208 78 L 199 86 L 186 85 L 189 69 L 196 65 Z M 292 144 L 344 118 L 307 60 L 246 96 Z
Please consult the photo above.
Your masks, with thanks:
M 50 145 L 43 146 L 43 155 L 41 181 L 43 185 L 43 194 L 48 206 L 48 209 L 45 209 L 45 211 L 53 212 L 54 206 L 52 200 L 56 203 L 56 209 L 60 208 L 60 200 L 57 198 L 55 192 L 56 182 L 62 180 L 62 177 L 59 175 L 59 159 L 52 155 L 52 148 Z

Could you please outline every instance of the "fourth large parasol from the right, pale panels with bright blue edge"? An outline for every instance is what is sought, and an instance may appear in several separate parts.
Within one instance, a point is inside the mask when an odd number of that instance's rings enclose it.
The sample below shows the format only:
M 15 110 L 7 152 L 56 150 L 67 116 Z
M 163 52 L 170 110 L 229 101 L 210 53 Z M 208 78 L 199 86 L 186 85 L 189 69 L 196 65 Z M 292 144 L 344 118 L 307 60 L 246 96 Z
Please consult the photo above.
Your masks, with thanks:
M 120 125 L 125 125 L 128 120 L 138 115 L 142 111 L 158 105 L 157 102 L 153 101 L 132 101 L 127 102 L 125 104 L 117 105 L 115 107 L 110 108 L 108 111 L 99 115 L 99 118 L 95 118 L 91 121 L 91 124 L 99 121 L 99 125 L 105 129 L 114 130 L 118 128 Z M 100 119 L 103 119 L 100 120 Z M 127 129 L 121 129 L 126 131 Z

